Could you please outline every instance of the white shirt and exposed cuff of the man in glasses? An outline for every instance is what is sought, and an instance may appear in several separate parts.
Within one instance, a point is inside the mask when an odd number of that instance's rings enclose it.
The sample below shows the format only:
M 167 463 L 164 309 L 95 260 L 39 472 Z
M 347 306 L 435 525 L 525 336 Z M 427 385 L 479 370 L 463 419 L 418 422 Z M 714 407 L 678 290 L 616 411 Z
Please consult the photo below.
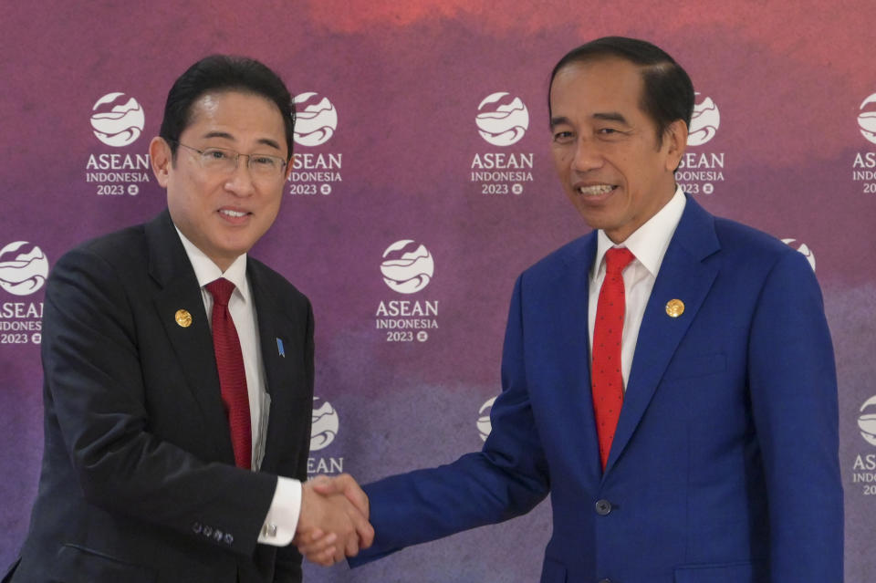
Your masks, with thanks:
M 213 296 L 206 285 L 224 277 L 235 285 L 235 291 L 228 299 L 228 311 L 235 322 L 240 351 L 244 357 L 246 390 L 249 393 L 249 417 L 253 432 L 252 470 L 255 472 L 265 457 L 268 412 L 271 398 L 265 390 L 265 367 L 262 362 L 262 349 L 258 341 L 258 318 L 255 315 L 253 292 L 246 277 L 246 254 L 237 257 L 228 269 L 222 272 L 213 260 L 189 241 L 179 229 L 176 230 L 183 242 L 185 254 L 192 263 L 194 276 L 201 286 L 203 308 L 207 321 L 213 328 Z M 276 490 L 271 506 L 265 517 L 265 525 L 258 536 L 258 542 L 275 547 L 285 547 L 292 542 L 301 512 L 301 483 L 292 478 L 277 476 Z

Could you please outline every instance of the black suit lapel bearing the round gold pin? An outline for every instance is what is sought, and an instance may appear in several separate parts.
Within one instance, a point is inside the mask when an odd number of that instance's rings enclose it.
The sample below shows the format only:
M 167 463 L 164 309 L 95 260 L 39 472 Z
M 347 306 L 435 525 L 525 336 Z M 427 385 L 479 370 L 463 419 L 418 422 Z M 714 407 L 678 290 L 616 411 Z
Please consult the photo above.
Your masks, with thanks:
M 201 410 L 207 432 L 214 436 L 211 441 L 216 459 L 234 464 L 231 433 L 216 371 L 213 335 L 203 309 L 201 288 L 170 213 L 165 210 L 146 225 L 146 240 L 149 273 L 161 287 L 154 297 L 158 317 L 183 370 L 186 386 Z M 177 323 L 176 313 L 180 309 L 191 314 L 191 325 Z

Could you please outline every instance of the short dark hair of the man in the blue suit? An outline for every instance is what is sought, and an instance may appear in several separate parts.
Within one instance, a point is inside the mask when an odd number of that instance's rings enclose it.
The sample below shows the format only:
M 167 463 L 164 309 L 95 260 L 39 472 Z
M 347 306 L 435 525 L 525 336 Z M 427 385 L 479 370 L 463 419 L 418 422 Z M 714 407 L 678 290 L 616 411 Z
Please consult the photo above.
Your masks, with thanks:
M 561 68 L 571 63 L 606 57 L 619 57 L 641 67 L 642 91 L 639 107 L 657 125 L 658 143 L 675 120 L 683 120 L 688 129 L 694 114 L 694 84 L 687 72 L 666 51 L 638 38 L 603 36 L 573 48 L 559 59 L 550 73 L 547 86 L 547 110 L 550 111 L 550 87 Z

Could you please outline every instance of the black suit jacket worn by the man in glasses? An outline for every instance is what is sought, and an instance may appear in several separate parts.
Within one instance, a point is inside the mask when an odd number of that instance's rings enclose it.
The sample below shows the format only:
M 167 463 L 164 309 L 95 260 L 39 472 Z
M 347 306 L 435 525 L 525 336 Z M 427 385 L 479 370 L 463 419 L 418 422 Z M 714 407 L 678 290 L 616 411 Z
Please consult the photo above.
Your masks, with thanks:
M 247 276 L 271 397 L 257 473 L 234 465 L 201 291 L 169 213 L 57 262 L 43 322 L 45 453 L 12 581 L 300 581 L 294 547 L 256 538 L 276 475 L 307 476 L 313 315 L 252 257 Z

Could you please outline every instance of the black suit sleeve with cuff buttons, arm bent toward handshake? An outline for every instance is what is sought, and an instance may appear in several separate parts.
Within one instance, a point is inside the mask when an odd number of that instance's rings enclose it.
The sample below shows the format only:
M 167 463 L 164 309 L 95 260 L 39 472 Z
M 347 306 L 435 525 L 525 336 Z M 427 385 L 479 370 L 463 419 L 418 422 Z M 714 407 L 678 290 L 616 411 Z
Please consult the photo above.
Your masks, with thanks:
M 42 345 L 47 423 L 89 504 L 251 556 L 276 476 L 205 462 L 150 432 L 140 358 L 150 347 L 138 344 L 130 301 L 98 255 L 57 263 Z

